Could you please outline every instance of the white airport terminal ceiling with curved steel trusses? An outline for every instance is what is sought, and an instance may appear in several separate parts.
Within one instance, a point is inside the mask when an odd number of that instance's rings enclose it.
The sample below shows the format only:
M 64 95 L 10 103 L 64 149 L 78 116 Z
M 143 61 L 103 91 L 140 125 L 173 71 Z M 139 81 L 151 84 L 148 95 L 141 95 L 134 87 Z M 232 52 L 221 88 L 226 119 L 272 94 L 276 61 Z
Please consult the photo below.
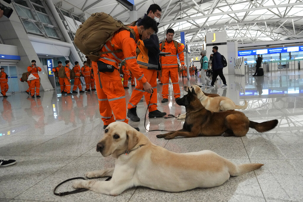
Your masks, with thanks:
M 87 16 L 106 12 L 122 22 L 130 22 L 129 9 L 122 0 L 64 0 L 62 8 Z M 60 1 L 54 0 L 55 3 Z M 228 41 L 239 44 L 260 41 L 285 41 L 303 38 L 303 1 L 301 0 L 135 0 L 138 18 L 150 4 L 162 9 L 158 36 L 164 39 L 168 28 L 185 32 L 185 41 L 198 52 L 206 32 L 226 31 Z

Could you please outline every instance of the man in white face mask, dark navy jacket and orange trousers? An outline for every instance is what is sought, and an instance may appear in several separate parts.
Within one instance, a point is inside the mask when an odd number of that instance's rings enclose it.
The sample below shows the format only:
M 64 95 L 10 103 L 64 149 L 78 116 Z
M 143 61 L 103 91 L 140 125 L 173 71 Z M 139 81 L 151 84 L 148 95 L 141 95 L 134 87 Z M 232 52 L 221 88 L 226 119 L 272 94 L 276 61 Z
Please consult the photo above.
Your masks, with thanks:
M 154 19 L 157 24 L 159 24 L 159 19 L 161 17 L 161 8 L 157 4 L 152 4 L 149 6 L 147 13 L 144 15 L 143 19 L 137 20 L 139 24 L 142 20 L 146 18 Z M 151 97 L 150 105 L 148 106 L 148 117 L 163 117 L 166 115 L 165 112 L 161 112 L 157 109 L 157 71 L 161 70 L 161 66 L 159 63 L 159 39 L 156 33 L 151 35 L 150 38 L 146 40 L 138 41 L 138 48 L 140 49 L 140 53 L 137 55 L 137 63 L 140 66 L 140 69 L 144 72 L 144 76 L 147 81 L 151 84 L 154 92 Z M 132 96 L 128 102 L 128 112 L 127 117 L 132 121 L 140 121 L 140 118 L 137 115 L 137 104 L 141 100 L 144 95 L 146 104 L 149 103 L 150 92 L 144 91 L 144 86 L 141 83 L 137 82 L 137 86 L 132 92 Z

